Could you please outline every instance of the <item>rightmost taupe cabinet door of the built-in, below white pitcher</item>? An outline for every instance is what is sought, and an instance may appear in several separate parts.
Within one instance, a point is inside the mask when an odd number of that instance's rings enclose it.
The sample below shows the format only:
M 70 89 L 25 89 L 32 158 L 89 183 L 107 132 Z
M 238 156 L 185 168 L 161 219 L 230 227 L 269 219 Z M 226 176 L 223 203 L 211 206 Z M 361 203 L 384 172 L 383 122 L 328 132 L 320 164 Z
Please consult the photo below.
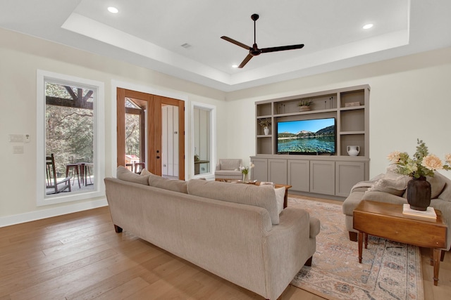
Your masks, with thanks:
M 364 162 L 335 162 L 335 195 L 347 197 L 351 188 L 359 181 L 365 180 Z

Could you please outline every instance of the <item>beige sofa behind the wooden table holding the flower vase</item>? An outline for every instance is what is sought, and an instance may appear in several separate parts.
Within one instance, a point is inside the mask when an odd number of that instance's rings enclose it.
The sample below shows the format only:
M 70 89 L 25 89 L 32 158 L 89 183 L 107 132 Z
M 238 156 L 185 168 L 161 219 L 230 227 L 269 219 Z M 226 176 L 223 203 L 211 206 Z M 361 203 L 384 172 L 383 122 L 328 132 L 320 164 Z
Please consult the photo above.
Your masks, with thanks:
M 447 248 L 451 248 L 451 181 L 442 174 L 435 172 L 433 177 L 428 177 L 431 183 L 431 207 L 438 209 L 443 214 L 443 220 L 447 224 Z M 362 200 L 373 200 L 395 204 L 407 203 L 406 188 L 409 178 L 393 174 L 388 170 L 371 179 L 354 185 L 350 195 L 343 202 L 342 209 L 345 214 L 346 229 L 350 233 L 350 240 L 357 240 L 357 231 L 352 227 L 352 212 Z

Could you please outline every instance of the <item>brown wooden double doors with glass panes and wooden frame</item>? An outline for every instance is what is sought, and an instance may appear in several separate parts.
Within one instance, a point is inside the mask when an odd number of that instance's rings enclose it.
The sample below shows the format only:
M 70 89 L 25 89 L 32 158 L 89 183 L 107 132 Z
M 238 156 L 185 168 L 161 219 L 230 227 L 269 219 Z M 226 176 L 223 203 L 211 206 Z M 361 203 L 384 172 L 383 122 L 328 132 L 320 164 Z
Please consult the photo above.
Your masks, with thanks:
M 130 102 L 137 107 L 127 108 L 126 103 Z M 130 149 L 126 143 L 130 133 L 125 122 L 128 114 L 141 116 L 134 129 L 135 135 L 141 136 L 140 145 L 134 147 L 140 149 L 140 156 L 132 157 L 135 159 L 132 163 L 128 162 L 130 154 L 126 152 Z M 138 123 L 139 130 L 136 129 Z M 139 171 L 135 168 L 136 162 L 141 165 L 144 162 L 144 167 L 153 174 L 185 180 L 185 101 L 117 88 L 117 163 Z

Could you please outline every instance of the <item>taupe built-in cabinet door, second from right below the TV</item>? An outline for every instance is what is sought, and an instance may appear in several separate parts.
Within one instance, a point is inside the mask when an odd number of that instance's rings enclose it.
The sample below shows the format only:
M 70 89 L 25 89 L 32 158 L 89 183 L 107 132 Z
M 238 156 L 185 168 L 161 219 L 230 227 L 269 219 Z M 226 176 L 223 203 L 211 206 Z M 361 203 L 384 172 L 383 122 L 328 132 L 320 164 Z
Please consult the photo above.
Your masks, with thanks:
M 310 193 L 335 195 L 335 162 L 310 161 Z

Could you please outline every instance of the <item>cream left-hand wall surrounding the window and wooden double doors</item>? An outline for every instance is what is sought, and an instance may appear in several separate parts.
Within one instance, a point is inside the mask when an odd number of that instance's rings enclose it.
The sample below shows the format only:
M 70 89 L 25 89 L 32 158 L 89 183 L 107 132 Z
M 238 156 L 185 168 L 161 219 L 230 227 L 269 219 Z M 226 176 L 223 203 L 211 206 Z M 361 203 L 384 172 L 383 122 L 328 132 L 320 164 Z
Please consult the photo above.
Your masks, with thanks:
M 115 169 L 116 147 L 112 141 L 112 109 L 116 98 L 112 96 L 112 81 L 128 82 L 136 86 L 148 86 L 159 91 L 186 96 L 185 128 L 188 148 L 187 157 L 194 157 L 191 151 L 190 101 L 216 105 L 224 111 L 225 93 L 199 84 L 176 79 L 165 74 L 147 70 L 118 60 L 97 56 L 92 53 L 68 48 L 42 39 L 36 39 L 16 32 L 0 30 L 0 226 L 18 221 L 43 218 L 55 214 L 65 214 L 80 209 L 89 209 L 104 203 L 104 197 L 80 200 L 69 204 L 36 206 L 36 186 L 44 184 L 36 180 L 36 72 L 37 70 L 56 72 L 82 77 L 105 84 L 105 138 L 106 174 L 111 176 Z M 218 136 L 226 136 L 228 119 L 218 117 Z M 8 134 L 30 134 L 30 143 L 24 143 L 24 153 L 13 155 L 13 143 L 8 142 Z M 218 139 L 220 157 L 226 157 L 227 142 Z M 188 165 L 191 174 L 192 164 Z

